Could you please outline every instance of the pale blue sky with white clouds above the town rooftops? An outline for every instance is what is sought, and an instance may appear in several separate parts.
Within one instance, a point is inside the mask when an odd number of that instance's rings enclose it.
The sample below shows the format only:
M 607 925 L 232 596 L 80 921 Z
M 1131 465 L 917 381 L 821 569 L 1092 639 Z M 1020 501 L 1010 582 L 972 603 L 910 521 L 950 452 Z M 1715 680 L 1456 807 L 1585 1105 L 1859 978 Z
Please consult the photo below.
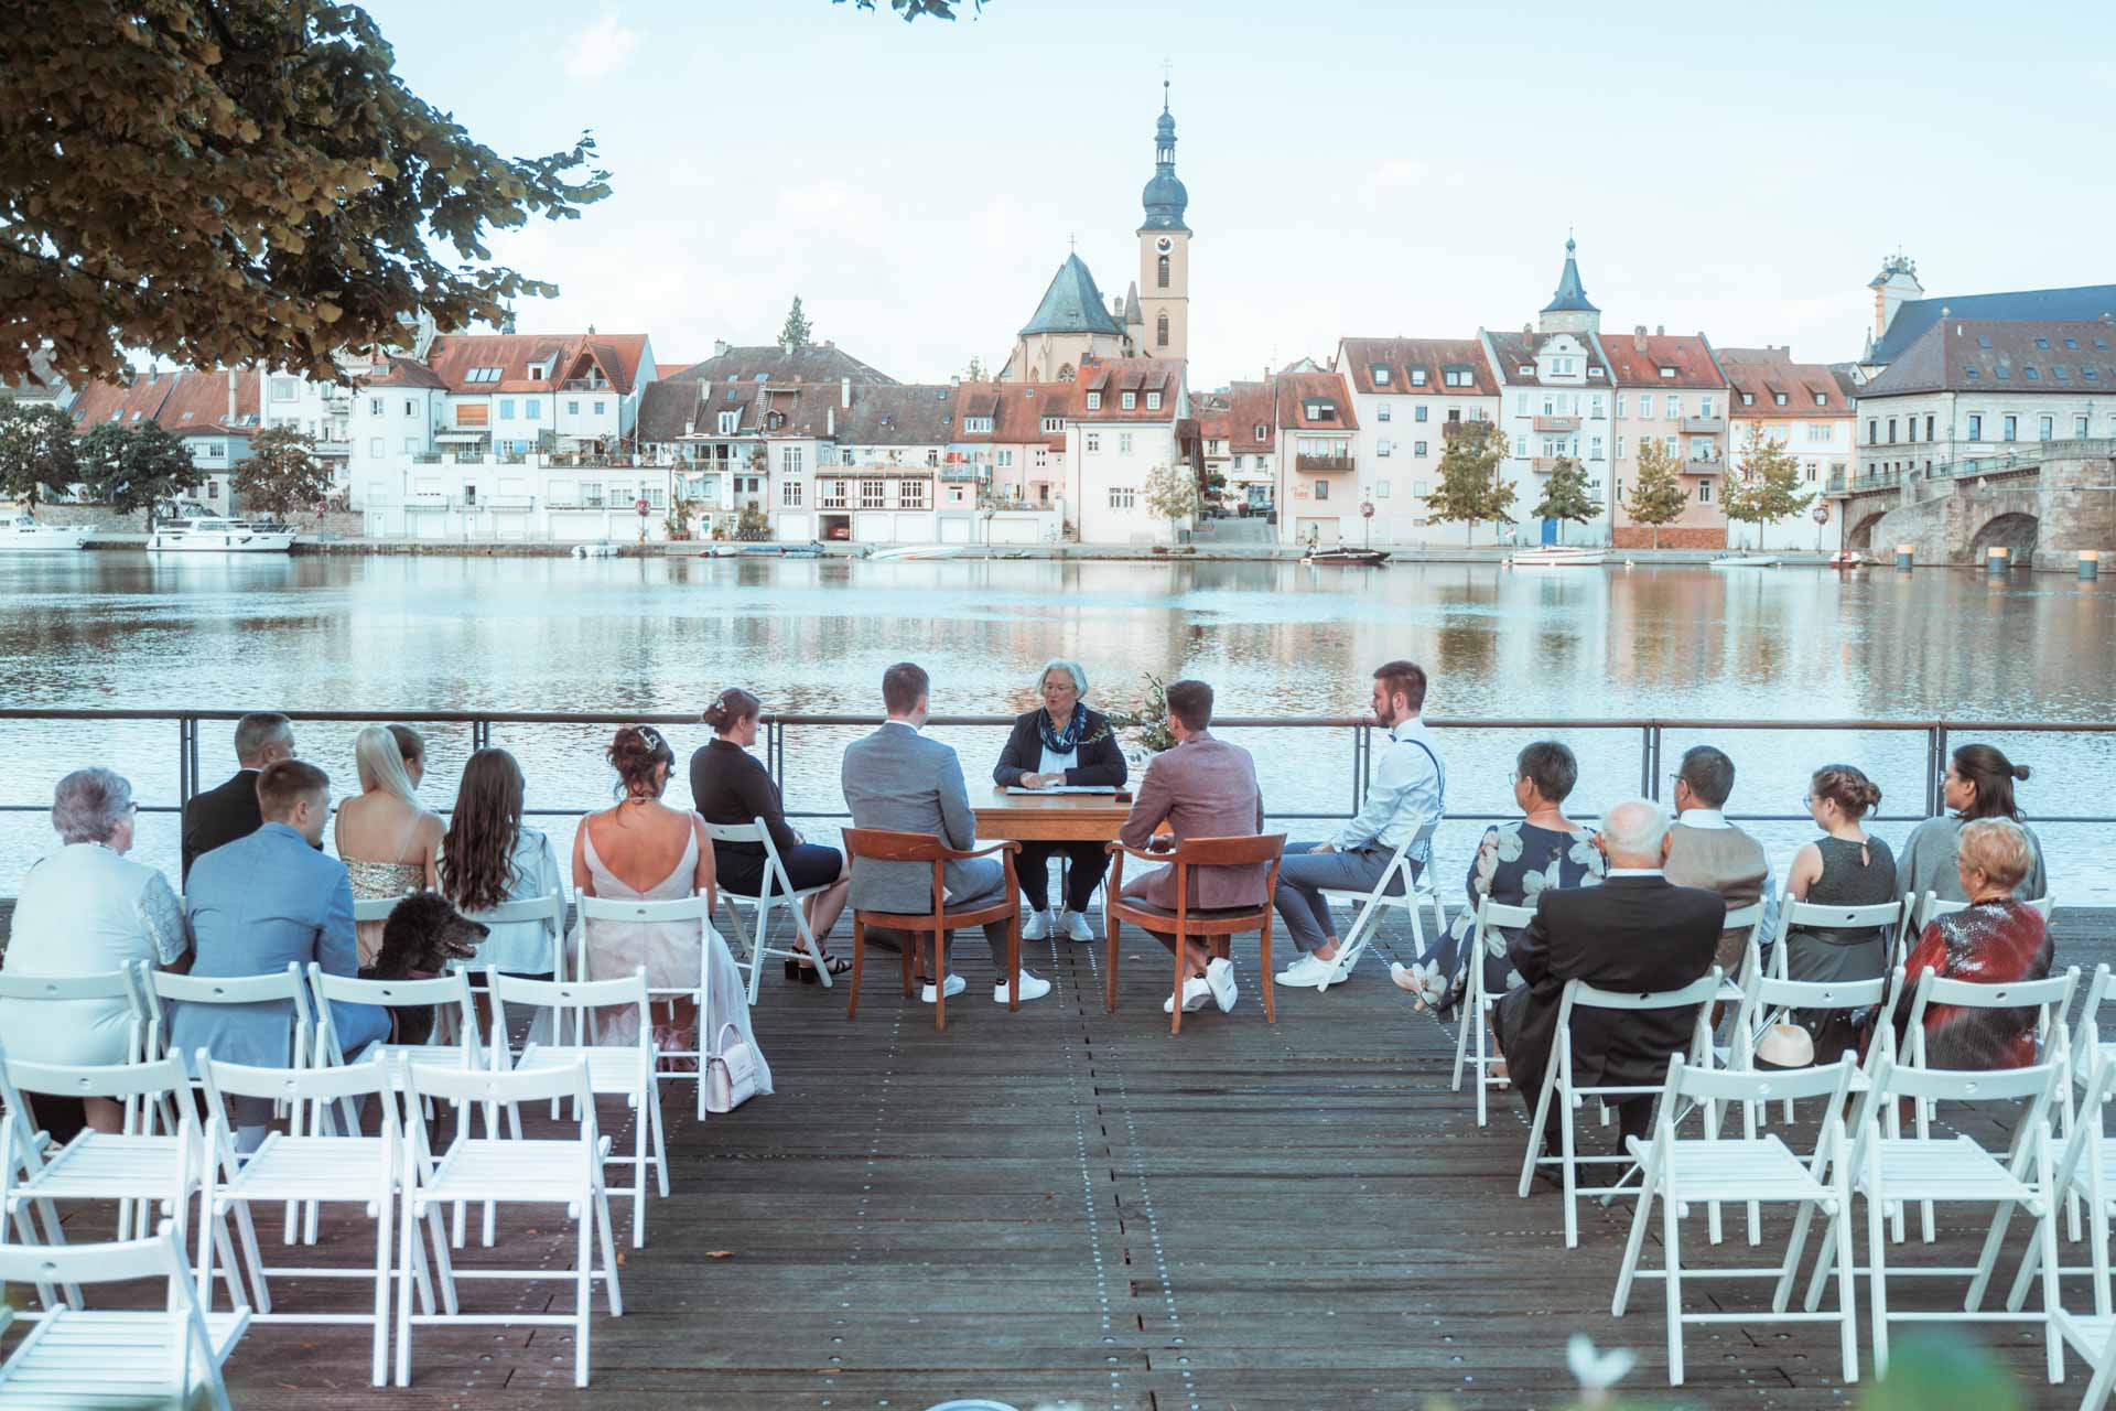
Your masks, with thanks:
M 887 6 L 887 0 L 884 0 Z M 1858 355 L 1881 258 L 1928 294 L 2116 281 L 2116 6 L 1504 8 L 988 0 L 370 0 L 398 72 L 504 154 L 595 133 L 614 195 L 493 239 L 523 332 L 658 362 L 817 341 L 944 381 L 1066 258 L 1136 277 L 1164 63 L 1193 389 L 1339 336 L 1534 319 L 1568 231 L 1602 328 Z

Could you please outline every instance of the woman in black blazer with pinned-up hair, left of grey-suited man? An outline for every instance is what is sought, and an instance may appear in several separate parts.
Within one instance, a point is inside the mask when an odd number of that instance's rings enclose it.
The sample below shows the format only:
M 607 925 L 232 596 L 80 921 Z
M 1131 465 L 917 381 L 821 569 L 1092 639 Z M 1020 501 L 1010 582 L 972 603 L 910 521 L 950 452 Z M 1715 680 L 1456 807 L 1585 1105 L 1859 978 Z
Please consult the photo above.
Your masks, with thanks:
M 838 914 L 844 912 L 844 897 L 853 880 L 844 874 L 844 857 L 838 848 L 808 842 L 787 827 L 779 783 L 772 781 L 770 770 L 745 753 L 758 743 L 758 713 L 762 709 L 764 702 L 741 688 L 719 692 L 713 704 L 705 707 L 703 719 L 713 728 L 713 740 L 696 749 L 690 757 L 690 802 L 707 823 L 755 823 L 764 819 L 764 827 L 772 833 L 772 846 L 779 848 L 779 861 L 787 872 L 785 880 L 794 884 L 794 891 L 825 888 L 802 903 L 808 916 L 808 931 L 815 935 L 815 943 L 823 946 L 829 939 L 829 929 L 838 924 Z M 766 863 L 762 842 L 715 840 L 713 865 L 722 891 L 730 891 L 736 897 L 755 897 L 764 891 Z M 772 878 L 772 891 L 779 893 L 783 888 L 785 882 Z M 853 967 L 851 960 L 832 956 L 827 946 L 823 946 L 823 965 L 829 967 L 832 975 L 842 975 Z M 815 960 L 787 960 L 787 979 L 813 982 Z

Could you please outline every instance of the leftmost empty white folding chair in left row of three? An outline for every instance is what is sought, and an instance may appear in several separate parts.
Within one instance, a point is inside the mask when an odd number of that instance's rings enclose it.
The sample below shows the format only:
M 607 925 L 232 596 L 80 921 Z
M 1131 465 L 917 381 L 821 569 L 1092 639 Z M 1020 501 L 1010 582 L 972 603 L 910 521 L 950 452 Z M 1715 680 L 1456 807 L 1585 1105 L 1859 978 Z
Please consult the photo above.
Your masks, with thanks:
M 23 1094 L 70 1098 L 112 1098 L 125 1104 L 125 1132 L 83 1128 L 74 1140 L 53 1147 L 51 1136 L 30 1130 L 30 1106 Z M 74 1068 L 38 1064 L 0 1051 L 0 1102 L 6 1121 L 0 1123 L 0 1212 L 13 1221 L 23 1244 L 66 1244 L 57 1202 L 157 1202 L 163 1218 L 176 1227 L 182 1244 L 190 1227 L 190 1197 L 199 1193 L 199 1130 L 190 1117 L 190 1075 L 176 1058 L 150 1064 L 114 1064 Z M 178 1113 L 167 1132 L 157 1132 L 157 1117 Z M 32 1212 L 36 1221 L 32 1221 Z M 38 1223 L 42 1233 L 38 1233 Z M 203 1238 L 220 1244 L 222 1259 L 233 1254 L 224 1221 L 205 1218 Z M 74 1307 L 83 1307 L 80 1290 L 68 1288 Z M 51 1295 L 40 1288 L 44 1307 Z M 233 1278 L 229 1297 L 239 1301 Z

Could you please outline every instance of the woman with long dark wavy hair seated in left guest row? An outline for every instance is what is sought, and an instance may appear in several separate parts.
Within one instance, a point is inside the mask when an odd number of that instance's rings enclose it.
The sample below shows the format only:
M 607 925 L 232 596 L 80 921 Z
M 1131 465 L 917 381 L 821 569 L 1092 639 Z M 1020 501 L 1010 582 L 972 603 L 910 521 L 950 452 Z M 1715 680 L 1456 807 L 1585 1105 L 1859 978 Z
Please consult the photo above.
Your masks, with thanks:
M 440 895 L 466 916 L 508 901 L 540 901 L 557 891 L 559 853 L 540 827 L 523 823 L 523 772 L 504 749 L 480 749 L 463 764 L 449 833 L 434 861 Z M 482 971 L 550 979 L 557 937 L 540 920 L 489 922 L 474 960 L 451 963 Z

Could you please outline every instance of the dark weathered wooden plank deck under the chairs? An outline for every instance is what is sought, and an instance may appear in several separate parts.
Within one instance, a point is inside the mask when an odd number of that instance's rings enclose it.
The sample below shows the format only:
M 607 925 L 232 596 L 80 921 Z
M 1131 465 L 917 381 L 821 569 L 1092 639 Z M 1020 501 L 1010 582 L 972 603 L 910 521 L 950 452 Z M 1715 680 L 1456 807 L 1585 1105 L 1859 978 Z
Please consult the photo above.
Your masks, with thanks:
M 377 1390 L 358 1333 L 258 1326 L 231 1362 L 237 1405 L 1517 1409 L 1564 1403 L 1574 1331 L 1638 1350 L 1627 1386 L 1667 1396 L 1659 1284 L 1634 1293 L 1627 1318 L 1608 1314 L 1629 1208 L 1585 1206 L 1581 1248 L 1566 1250 L 1557 1195 L 1515 1199 L 1519 1104 L 1500 1094 L 1490 1128 L 1475 1125 L 1447 1087 L 1454 1028 L 1401 1003 L 1386 956 L 1329 994 L 1280 992 L 1265 1026 L 1251 941 L 1236 1011 L 1189 1015 L 1170 1039 L 1164 952 L 1147 937 L 1128 933 L 1115 1015 L 1100 946 L 1028 950 L 1056 988 L 1007 1015 L 982 943 L 965 941 L 971 988 L 946 1034 L 895 994 L 887 954 L 853 1024 L 844 988 L 766 975 L 755 1026 L 779 1092 L 698 1125 L 690 1089 L 671 1089 L 675 1193 L 650 1204 L 650 1244 L 624 1250 L 626 1314 L 595 1320 L 590 1392 L 571 1388 L 571 1339 L 552 1328 L 419 1331 L 415 1386 Z M 1409 943 L 1392 933 L 1386 950 Z M 2116 958 L 2116 914 L 2061 912 L 2059 958 Z M 628 1221 L 618 1202 L 620 1240 Z M 70 1229 L 95 1235 L 87 1216 Z M 1693 1216 L 1686 1263 L 1756 1263 L 1737 1212 L 1727 1229 L 1714 1250 Z M 1782 1229 L 1767 1223 L 1767 1248 Z M 362 1238 L 326 1221 L 322 1259 L 360 1263 Z M 548 1216 L 504 1221 L 499 1246 L 550 1269 L 571 1261 Z M 1942 1216 L 1938 1246 L 1898 1248 L 1964 1263 L 1968 1216 Z M 459 1259 L 489 1254 L 472 1235 Z M 1942 1307 L 1934 1284 L 1892 1297 Z M 476 1307 L 571 1297 L 470 1288 Z M 358 1284 L 275 1290 L 288 1307 L 360 1297 Z M 1689 1299 L 1758 1305 L 1722 1280 Z M 1978 1335 L 2029 1405 L 2076 1405 L 2076 1360 L 2048 1388 L 2038 1337 Z M 1862 1318 L 1871 1375 L 1868 1348 Z M 1852 1405 L 1837 1375 L 1828 1324 L 1720 1324 L 1691 1331 L 1682 1400 Z

